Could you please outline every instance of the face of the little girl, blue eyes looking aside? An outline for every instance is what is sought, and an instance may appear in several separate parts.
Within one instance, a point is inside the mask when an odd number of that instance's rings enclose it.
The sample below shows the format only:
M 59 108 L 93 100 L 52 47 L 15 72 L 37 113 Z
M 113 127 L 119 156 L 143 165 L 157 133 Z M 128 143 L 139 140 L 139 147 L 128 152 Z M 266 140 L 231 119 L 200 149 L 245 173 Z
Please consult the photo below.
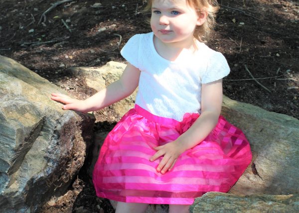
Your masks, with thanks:
M 201 25 L 195 8 L 186 0 L 153 0 L 150 26 L 163 43 L 193 42 L 196 25 Z

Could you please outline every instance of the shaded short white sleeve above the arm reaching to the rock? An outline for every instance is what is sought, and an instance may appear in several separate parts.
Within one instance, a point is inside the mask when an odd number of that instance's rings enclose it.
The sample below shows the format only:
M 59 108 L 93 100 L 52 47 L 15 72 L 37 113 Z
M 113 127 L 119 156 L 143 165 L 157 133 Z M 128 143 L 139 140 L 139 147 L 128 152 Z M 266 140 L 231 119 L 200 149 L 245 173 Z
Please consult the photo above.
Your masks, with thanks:
M 139 68 L 139 47 L 141 34 L 131 37 L 121 50 L 121 55 L 133 66 Z

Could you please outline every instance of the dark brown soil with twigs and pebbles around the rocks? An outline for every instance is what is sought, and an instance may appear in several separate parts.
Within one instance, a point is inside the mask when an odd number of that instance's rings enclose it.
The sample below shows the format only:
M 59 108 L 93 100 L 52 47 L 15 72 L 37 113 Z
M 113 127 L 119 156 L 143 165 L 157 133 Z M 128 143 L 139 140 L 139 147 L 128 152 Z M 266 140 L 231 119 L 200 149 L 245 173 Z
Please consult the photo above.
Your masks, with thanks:
M 125 62 L 120 50 L 128 39 L 150 31 L 141 13 L 146 0 L 73 0 L 42 16 L 55 2 L 0 0 L 0 55 L 16 60 L 71 95 L 84 99 L 95 91 L 65 70 L 98 67 L 111 60 Z M 207 45 L 223 53 L 230 65 L 231 73 L 223 81 L 224 95 L 299 118 L 298 1 L 219 0 L 219 3 L 218 25 Z M 110 130 L 119 119 L 109 107 L 96 116 L 95 130 Z M 95 196 L 83 167 L 69 192 L 40 212 L 114 210 L 106 199 Z

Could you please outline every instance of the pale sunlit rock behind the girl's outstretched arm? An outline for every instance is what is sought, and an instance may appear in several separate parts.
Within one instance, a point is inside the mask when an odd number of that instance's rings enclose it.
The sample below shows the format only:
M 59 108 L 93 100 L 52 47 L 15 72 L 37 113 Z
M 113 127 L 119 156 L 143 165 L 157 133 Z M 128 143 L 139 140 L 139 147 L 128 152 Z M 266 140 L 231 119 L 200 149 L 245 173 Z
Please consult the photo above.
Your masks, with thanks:
M 112 82 L 119 80 L 126 65 L 119 62 L 110 61 L 102 67 L 72 67 L 67 71 L 74 76 L 81 76 L 85 79 L 88 87 L 100 91 L 106 88 Z M 112 105 L 112 109 L 123 116 L 129 109 L 135 105 L 137 91 L 131 96 Z

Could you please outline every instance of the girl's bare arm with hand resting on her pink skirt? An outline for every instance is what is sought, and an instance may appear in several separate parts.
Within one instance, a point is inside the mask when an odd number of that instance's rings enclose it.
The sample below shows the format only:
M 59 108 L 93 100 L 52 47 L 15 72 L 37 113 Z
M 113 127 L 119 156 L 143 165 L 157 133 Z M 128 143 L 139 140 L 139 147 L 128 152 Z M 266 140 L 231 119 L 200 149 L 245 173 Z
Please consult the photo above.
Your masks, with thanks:
M 163 174 L 170 170 L 181 153 L 199 144 L 212 131 L 221 112 L 222 96 L 222 79 L 202 84 L 200 116 L 176 140 L 155 148 L 157 152 L 150 158 L 150 161 L 163 156 L 157 167 L 158 172 Z

